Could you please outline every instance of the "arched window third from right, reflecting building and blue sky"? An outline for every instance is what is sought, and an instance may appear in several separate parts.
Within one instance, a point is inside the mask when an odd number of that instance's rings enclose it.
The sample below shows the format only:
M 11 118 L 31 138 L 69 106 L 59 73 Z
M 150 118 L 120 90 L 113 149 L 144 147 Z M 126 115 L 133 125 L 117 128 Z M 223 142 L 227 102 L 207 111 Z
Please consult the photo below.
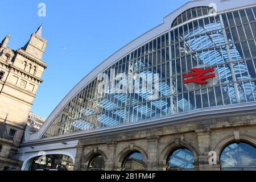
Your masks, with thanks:
M 144 171 L 146 160 L 139 151 L 128 154 L 123 160 L 122 170 L 125 171 Z

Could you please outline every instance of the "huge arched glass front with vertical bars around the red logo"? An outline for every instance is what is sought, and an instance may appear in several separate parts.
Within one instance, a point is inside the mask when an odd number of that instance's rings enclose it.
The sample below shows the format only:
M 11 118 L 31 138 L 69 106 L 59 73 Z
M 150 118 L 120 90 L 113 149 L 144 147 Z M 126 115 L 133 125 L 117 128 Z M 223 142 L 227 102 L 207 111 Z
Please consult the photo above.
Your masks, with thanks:
M 41 138 L 254 102 L 255 15 L 251 7 L 191 19 L 144 43 L 85 85 Z M 184 84 L 192 68 L 214 68 L 215 77 Z

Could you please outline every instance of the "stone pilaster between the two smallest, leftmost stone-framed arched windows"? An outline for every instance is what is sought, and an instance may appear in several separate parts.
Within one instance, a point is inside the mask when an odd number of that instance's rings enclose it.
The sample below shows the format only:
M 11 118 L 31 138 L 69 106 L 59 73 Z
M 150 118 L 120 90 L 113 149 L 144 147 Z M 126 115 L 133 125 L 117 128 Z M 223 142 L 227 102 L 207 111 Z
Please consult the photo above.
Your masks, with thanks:
M 105 170 L 106 171 L 112 171 L 114 169 L 115 164 L 115 148 L 117 146 L 117 142 L 108 142 L 106 143 L 108 145 L 108 149 L 106 151 L 106 156 L 108 156 L 108 159 L 105 162 Z

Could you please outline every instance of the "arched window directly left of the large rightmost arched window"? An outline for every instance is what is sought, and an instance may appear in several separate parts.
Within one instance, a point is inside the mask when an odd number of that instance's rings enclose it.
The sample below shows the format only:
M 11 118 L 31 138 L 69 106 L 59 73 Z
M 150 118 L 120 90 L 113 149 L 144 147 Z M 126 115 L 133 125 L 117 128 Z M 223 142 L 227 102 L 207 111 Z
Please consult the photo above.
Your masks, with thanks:
M 194 169 L 194 156 L 187 148 L 179 148 L 171 152 L 167 159 L 169 169 L 189 170 Z

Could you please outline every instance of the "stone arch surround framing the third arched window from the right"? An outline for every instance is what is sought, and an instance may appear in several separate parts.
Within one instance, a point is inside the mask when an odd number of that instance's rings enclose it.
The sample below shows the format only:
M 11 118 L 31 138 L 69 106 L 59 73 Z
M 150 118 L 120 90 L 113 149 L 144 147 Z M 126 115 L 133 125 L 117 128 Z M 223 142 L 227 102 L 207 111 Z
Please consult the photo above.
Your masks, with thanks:
M 135 152 L 135 151 L 141 152 L 141 154 L 144 156 L 145 161 L 146 161 L 145 166 L 147 166 L 147 159 L 148 159 L 147 152 L 139 146 L 134 146 L 133 144 L 130 144 L 129 147 L 126 147 L 121 152 L 119 152 L 119 154 L 117 155 L 117 158 L 116 158 L 117 163 L 115 164 L 114 168 L 121 170 L 123 161 L 125 160 L 127 155 L 129 155 L 131 152 Z

